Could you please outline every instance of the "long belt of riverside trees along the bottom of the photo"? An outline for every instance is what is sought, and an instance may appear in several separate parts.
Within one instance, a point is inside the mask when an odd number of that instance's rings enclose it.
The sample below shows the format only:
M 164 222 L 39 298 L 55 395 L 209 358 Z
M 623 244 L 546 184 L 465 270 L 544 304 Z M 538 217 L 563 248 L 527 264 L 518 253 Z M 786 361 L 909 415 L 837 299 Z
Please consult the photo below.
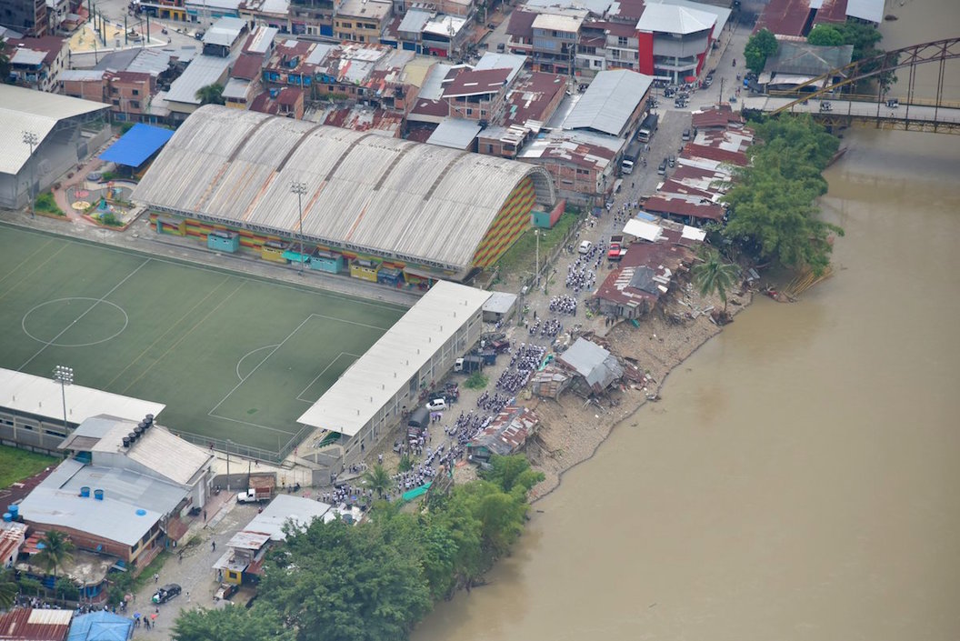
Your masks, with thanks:
M 318 520 L 289 531 L 267 557 L 249 614 L 193 610 L 178 619 L 175 641 L 406 638 L 434 602 L 469 589 L 509 552 L 527 492 L 543 478 L 520 455 L 494 457 L 482 477 L 430 494 L 421 510 L 380 502 L 359 526 Z M 245 626 L 255 631 L 240 634 Z

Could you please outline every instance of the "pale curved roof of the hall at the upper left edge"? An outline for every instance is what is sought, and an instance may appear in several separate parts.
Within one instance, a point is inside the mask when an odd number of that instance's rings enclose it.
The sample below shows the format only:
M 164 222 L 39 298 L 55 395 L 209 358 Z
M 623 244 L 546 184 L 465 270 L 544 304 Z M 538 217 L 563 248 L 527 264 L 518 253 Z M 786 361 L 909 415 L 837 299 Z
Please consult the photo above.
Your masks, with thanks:
M 18 174 L 30 157 L 30 147 L 21 142 L 24 131 L 36 133 L 38 145 L 60 120 L 108 108 L 90 100 L 0 84 L 0 140 L 5 141 L 0 174 Z

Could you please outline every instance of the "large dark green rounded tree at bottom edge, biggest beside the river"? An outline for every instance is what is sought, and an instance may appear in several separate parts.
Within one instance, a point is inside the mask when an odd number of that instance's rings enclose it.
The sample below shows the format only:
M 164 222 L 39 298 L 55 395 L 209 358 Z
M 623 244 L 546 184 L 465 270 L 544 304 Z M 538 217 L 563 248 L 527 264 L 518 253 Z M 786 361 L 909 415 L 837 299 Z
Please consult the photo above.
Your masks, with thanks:
M 339 520 L 288 534 L 260 594 L 298 641 L 403 639 L 430 607 L 418 558 L 387 545 L 381 528 Z

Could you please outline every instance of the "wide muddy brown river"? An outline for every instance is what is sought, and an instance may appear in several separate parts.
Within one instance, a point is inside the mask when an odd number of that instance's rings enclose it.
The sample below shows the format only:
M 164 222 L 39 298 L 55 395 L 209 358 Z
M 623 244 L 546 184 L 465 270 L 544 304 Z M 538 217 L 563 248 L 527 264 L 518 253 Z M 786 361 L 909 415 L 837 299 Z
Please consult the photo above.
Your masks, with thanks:
M 958 141 L 849 132 L 835 275 L 677 368 L 415 641 L 960 638 Z

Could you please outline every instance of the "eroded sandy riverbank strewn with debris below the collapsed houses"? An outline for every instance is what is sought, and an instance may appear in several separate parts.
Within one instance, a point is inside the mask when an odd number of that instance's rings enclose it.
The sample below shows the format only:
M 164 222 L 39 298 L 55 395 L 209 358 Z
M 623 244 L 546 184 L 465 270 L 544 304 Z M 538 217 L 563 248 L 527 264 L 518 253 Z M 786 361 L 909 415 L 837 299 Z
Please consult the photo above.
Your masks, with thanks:
M 736 315 L 753 301 L 753 296 L 752 292 L 732 295 L 728 311 Z M 695 294 L 686 299 L 692 299 L 700 308 L 711 304 L 722 307 L 719 299 L 705 300 Z M 636 427 L 639 423 L 636 412 L 646 403 L 655 402 L 647 400 L 647 392 L 664 393 L 670 371 L 722 331 L 707 315 L 684 324 L 668 321 L 667 316 L 655 312 L 640 321 L 639 327 L 621 322 L 605 337 L 614 354 L 636 361 L 655 381 L 647 391 L 625 386 L 621 392 L 612 394 L 619 402 L 612 405 L 610 400 L 605 400 L 601 402 L 603 409 L 587 404 L 570 392 L 562 394 L 558 401 L 535 397 L 528 403 L 528 407 L 540 415 L 542 423 L 537 439 L 528 443 L 527 456 L 546 476 L 531 490 L 531 502 L 560 487 L 564 472 L 591 459 L 614 428 Z

